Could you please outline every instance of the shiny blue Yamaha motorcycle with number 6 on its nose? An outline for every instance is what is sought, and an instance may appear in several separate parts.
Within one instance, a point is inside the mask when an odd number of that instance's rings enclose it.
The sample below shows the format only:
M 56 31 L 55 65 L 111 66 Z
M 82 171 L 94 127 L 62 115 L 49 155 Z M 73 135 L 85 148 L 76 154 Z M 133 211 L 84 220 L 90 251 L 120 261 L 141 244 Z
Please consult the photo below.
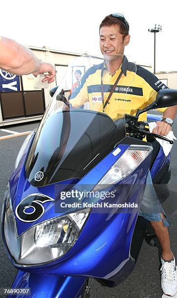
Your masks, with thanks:
M 74 67 L 101 61 L 79 57 L 68 67 L 20 149 L 2 210 L 5 251 L 19 269 L 9 297 L 88 297 L 89 277 L 118 285 L 134 269 L 146 233 L 138 210 L 148 170 L 156 184 L 170 179 L 170 154 L 142 141 L 166 138 L 150 133 L 138 115 L 177 104 L 176 91 L 159 91 L 136 116 L 120 101 L 116 122 L 88 104 L 71 109 Z

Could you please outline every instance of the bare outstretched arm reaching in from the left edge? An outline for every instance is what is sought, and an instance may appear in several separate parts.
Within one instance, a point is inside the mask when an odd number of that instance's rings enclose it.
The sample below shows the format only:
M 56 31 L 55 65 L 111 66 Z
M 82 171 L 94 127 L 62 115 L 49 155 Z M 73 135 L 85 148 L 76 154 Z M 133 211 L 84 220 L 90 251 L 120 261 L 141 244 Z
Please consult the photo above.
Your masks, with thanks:
M 13 39 L 0 37 L 0 69 L 14 75 L 48 73 L 42 82 L 52 83 L 56 71 L 49 63 L 40 61 L 33 52 Z

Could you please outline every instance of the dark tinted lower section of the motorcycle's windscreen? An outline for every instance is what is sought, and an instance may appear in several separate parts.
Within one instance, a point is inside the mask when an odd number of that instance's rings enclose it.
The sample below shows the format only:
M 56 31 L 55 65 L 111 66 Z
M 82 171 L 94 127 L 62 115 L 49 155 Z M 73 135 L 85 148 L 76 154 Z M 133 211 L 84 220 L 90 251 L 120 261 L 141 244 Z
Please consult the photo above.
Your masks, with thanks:
M 42 126 L 26 163 L 33 186 L 82 178 L 125 137 L 124 121 L 119 124 L 106 114 L 70 110 L 57 112 Z M 39 181 L 37 173 L 42 172 Z

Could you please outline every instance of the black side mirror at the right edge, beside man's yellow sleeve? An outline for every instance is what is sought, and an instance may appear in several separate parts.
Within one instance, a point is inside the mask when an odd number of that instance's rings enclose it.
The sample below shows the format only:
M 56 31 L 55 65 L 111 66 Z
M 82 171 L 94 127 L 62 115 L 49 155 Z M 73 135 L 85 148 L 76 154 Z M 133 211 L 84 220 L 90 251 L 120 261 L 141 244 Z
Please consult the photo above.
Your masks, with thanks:
M 168 108 L 177 105 L 176 89 L 161 89 L 157 92 L 156 100 L 143 110 L 138 110 L 136 116 L 158 108 Z

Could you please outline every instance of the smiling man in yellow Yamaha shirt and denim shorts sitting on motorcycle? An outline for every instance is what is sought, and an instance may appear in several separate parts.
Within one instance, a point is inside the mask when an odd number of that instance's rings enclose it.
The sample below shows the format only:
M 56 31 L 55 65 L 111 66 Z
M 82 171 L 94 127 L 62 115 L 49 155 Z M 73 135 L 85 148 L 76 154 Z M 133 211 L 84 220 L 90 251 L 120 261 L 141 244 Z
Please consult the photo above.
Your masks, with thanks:
M 91 110 L 105 112 L 113 120 L 116 120 L 119 112 L 117 111 L 117 102 L 125 96 L 125 92 L 123 94 L 121 88 L 116 90 L 115 86 L 129 87 L 130 78 L 132 72 L 134 72 L 135 78 L 133 82 L 131 81 L 131 90 L 126 94 L 125 113 L 135 115 L 138 109 L 143 109 L 155 101 L 158 90 L 167 87 L 155 75 L 140 66 L 137 66 L 135 74 L 132 64 L 123 56 L 125 46 L 130 41 L 130 35 L 129 24 L 122 15 L 112 14 L 106 16 L 99 26 L 99 33 L 100 50 L 105 61 L 98 66 L 90 68 L 85 73 L 82 77 L 79 91 L 71 94 L 70 103 L 72 103 L 74 108 L 79 108 L 86 101 L 89 101 Z M 112 86 L 109 92 L 104 92 L 102 87 L 105 84 Z M 95 103 L 95 98 L 98 98 L 97 104 Z M 163 113 L 164 121 L 157 121 L 157 127 L 153 132 L 167 135 L 172 129 L 171 123 L 173 123 L 176 113 L 177 106 L 165 109 Z M 165 121 L 165 118 L 170 118 L 171 123 Z M 146 121 L 147 113 L 142 113 L 139 116 L 139 120 Z M 147 185 L 139 215 L 150 221 L 161 244 L 161 287 L 166 295 L 174 296 L 177 293 L 177 268 L 175 257 L 170 247 L 169 221 L 157 198 L 150 172 L 148 173 Z

